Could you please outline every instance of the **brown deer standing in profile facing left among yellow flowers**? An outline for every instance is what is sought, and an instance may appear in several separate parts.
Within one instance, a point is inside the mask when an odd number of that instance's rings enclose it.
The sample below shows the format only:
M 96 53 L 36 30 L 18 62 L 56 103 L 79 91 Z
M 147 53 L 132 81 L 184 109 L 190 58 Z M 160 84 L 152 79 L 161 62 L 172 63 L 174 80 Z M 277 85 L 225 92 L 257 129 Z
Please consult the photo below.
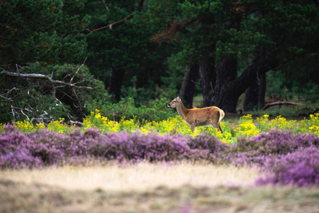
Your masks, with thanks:
M 179 97 L 169 102 L 167 107 L 177 109 L 179 116 L 184 119 L 188 126 L 191 126 L 192 133 L 194 133 L 197 126 L 213 126 L 213 128 L 217 128 L 223 133 L 223 129 L 220 127 L 220 121 L 225 116 L 225 113 L 218 107 L 187 109 Z

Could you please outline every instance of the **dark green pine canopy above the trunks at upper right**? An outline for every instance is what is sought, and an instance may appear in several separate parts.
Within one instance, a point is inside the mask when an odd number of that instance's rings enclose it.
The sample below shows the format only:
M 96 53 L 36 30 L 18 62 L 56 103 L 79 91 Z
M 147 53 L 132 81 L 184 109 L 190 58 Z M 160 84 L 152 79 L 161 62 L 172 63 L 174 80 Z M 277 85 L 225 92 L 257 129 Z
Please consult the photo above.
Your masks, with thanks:
M 164 11 L 169 12 L 162 16 Z M 166 23 L 167 28 L 177 21 L 175 26 L 187 30 L 184 33 L 171 27 L 172 39 L 162 36 L 162 41 L 177 45 L 184 58 L 172 63 L 170 70 L 196 62 L 216 67 L 216 62 L 228 55 L 240 58 L 238 70 L 242 70 L 247 67 L 245 61 L 272 55 L 293 82 L 305 84 L 311 77 L 319 83 L 319 13 L 311 1 L 156 1 L 147 12 L 154 18 L 152 24 Z

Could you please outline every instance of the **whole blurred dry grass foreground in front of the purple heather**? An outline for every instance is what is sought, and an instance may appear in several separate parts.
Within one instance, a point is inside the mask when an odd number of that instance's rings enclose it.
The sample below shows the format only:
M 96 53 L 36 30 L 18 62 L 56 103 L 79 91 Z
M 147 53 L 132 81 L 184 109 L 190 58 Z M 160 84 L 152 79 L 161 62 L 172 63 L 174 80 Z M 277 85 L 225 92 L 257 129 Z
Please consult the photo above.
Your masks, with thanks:
M 0 212 L 318 212 L 317 188 L 255 187 L 257 169 L 206 163 L 3 170 Z

